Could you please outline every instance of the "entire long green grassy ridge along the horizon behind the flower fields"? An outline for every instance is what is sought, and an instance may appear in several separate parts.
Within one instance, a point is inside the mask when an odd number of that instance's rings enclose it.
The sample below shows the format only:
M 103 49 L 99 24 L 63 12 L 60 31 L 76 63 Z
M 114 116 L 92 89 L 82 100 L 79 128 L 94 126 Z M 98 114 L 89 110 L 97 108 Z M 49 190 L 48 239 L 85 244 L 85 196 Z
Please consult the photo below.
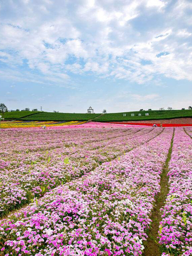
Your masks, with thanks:
M 145 114 L 149 113 L 149 116 Z M 123 116 L 126 114 L 126 116 Z M 134 114 L 134 116 L 131 116 Z M 139 116 L 141 114 L 141 116 Z M 2 115 L 2 114 L 0 114 Z M 6 112 L 5 119 L 20 119 L 27 121 L 88 121 L 94 118 L 98 122 L 119 122 L 119 121 L 143 121 L 157 119 L 171 119 L 181 117 L 192 117 L 192 110 L 150 110 L 132 111 L 122 113 L 101 114 L 79 114 L 79 113 L 51 113 L 51 112 L 32 112 L 18 111 Z

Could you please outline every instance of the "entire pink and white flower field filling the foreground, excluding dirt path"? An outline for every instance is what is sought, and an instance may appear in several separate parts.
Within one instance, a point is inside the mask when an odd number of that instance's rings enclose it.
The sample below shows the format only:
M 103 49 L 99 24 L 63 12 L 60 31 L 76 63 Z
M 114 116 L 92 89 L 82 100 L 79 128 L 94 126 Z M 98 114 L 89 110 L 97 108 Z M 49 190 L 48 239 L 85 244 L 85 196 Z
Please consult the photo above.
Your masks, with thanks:
M 0 130 L 0 255 L 191 255 L 192 129 L 84 123 Z M 154 242 L 155 243 L 155 242 Z

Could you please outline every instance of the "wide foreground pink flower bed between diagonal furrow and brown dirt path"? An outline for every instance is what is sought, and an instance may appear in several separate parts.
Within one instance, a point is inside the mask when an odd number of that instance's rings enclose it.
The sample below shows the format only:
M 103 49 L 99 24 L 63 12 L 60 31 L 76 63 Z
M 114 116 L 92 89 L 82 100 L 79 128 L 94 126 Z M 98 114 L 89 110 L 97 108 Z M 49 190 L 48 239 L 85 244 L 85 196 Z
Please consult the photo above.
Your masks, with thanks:
M 161 131 L 2 220 L 3 255 L 141 255 L 173 133 Z

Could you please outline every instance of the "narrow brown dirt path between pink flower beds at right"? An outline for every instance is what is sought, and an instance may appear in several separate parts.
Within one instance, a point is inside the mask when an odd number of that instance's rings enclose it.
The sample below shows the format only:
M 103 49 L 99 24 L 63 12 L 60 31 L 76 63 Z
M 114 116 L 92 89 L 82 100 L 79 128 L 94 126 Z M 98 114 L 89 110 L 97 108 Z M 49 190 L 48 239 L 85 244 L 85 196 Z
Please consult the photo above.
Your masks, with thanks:
M 162 255 L 159 249 L 157 237 L 158 237 L 158 230 L 159 230 L 159 222 L 162 220 L 162 216 L 161 216 L 162 212 L 160 209 L 165 205 L 166 196 L 169 192 L 169 185 L 168 185 L 169 177 L 167 176 L 167 173 L 169 171 L 169 162 L 172 154 L 174 132 L 175 132 L 175 129 L 173 130 L 171 146 L 169 149 L 169 153 L 167 154 L 165 166 L 161 174 L 161 181 L 160 181 L 161 190 L 159 194 L 156 196 L 154 209 L 151 214 L 151 220 L 152 220 L 151 228 L 149 230 L 148 238 L 145 243 L 145 249 L 142 253 L 143 256 L 161 256 Z

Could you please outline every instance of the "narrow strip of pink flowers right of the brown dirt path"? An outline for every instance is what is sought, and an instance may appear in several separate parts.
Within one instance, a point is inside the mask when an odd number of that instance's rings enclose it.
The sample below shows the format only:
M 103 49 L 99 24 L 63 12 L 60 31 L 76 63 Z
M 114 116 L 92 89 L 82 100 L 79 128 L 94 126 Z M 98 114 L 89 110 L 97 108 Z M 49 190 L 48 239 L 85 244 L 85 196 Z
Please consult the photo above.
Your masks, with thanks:
M 163 255 L 192 255 L 192 140 L 183 129 L 175 130 L 168 175 L 159 243 Z

